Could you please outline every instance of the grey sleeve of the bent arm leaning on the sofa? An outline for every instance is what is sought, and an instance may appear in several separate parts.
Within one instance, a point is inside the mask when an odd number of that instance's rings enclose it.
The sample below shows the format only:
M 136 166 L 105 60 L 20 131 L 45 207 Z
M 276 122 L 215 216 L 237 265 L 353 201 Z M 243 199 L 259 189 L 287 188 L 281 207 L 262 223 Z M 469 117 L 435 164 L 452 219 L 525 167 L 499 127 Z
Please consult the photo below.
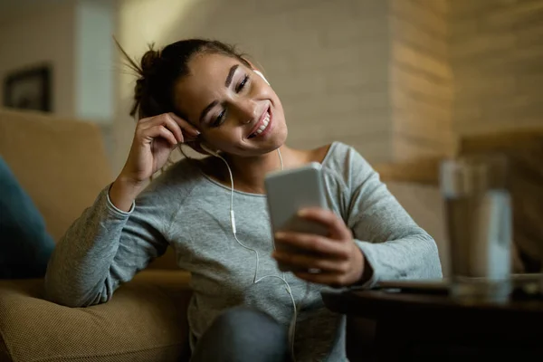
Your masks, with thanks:
M 47 299 L 69 307 L 106 302 L 167 249 L 167 202 L 144 191 L 126 213 L 110 202 L 110 186 L 77 219 L 52 252 Z

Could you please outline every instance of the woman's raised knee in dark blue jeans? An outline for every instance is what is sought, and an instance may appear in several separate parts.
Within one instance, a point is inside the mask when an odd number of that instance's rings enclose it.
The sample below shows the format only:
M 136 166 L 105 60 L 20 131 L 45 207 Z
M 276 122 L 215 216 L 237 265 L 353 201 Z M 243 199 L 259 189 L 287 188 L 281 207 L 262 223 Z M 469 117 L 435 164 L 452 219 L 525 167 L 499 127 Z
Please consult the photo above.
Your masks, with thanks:
M 192 362 L 289 360 L 288 331 L 268 314 L 235 307 L 217 317 L 196 344 Z

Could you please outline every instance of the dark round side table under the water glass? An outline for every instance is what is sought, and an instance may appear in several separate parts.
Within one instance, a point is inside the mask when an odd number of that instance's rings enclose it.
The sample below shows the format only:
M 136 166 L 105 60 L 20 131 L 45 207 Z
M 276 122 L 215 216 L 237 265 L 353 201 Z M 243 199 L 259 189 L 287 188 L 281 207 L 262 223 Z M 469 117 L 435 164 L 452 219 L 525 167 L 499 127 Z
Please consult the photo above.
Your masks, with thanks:
M 372 359 L 379 362 L 543 360 L 543 300 L 466 304 L 401 291 L 323 291 L 322 298 L 348 317 L 350 361 L 371 352 L 357 343 L 357 319 L 376 320 Z

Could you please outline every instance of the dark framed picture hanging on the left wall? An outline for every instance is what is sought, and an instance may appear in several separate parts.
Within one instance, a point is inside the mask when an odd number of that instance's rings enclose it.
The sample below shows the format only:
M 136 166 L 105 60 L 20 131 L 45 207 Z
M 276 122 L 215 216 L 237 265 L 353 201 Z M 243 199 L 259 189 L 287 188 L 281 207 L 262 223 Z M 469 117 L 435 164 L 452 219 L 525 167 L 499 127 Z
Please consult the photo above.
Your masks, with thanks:
M 8 73 L 4 80 L 4 107 L 52 111 L 51 73 L 49 65 Z

